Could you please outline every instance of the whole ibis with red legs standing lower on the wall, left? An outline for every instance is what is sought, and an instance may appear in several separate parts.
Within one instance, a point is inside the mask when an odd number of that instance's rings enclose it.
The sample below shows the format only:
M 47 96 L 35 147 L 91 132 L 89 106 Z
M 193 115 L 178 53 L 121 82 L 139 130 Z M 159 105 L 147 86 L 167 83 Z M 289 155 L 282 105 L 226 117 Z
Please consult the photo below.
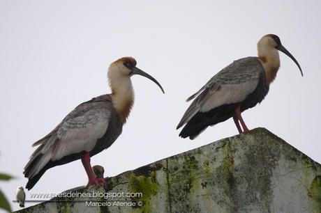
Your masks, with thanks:
M 89 181 L 87 186 L 102 182 L 96 177 L 90 157 L 112 145 L 122 132 L 134 103 L 134 90 L 130 77 L 139 74 L 162 86 L 151 75 L 136 67 L 132 57 L 120 58 L 108 68 L 111 94 L 100 95 L 78 105 L 43 139 L 33 143 L 39 145 L 24 167 L 28 178 L 26 188 L 30 190 L 47 169 L 82 159 Z

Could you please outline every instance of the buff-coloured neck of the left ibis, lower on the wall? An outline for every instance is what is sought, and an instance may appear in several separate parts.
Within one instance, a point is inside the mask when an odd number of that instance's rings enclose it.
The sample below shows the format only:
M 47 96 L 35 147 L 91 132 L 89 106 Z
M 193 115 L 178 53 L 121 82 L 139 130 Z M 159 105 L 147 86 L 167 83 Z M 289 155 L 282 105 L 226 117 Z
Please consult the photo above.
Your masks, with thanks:
M 108 74 L 112 100 L 121 121 L 126 123 L 130 110 L 134 104 L 134 90 L 129 77 Z

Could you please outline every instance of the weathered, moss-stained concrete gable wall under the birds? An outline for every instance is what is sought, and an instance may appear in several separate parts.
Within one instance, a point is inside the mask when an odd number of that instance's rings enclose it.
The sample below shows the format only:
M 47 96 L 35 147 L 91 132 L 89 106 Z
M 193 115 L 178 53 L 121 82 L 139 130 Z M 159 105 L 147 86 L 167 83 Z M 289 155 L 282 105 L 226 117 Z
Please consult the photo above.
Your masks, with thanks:
M 142 192 L 143 198 L 131 198 L 142 200 L 142 206 L 87 207 L 80 200 L 114 205 L 113 200 L 131 199 L 73 198 L 20 212 L 321 212 L 320 164 L 262 128 L 127 171 L 107 182 L 108 189 L 98 191 Z

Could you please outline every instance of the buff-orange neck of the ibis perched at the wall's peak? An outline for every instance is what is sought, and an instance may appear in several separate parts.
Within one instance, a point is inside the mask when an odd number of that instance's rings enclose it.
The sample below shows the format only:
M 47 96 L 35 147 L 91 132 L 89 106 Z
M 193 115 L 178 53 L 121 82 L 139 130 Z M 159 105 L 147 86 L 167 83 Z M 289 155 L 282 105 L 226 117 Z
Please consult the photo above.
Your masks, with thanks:
M 257 43 L 257 55 L 262 61 L 262 65 L 266 74 L 267 84 L 271 84 L 276 78 L 278 68 L 280 68 L 280 57 L 278 56 L 278 50 L 271 47 L 266 43 Z

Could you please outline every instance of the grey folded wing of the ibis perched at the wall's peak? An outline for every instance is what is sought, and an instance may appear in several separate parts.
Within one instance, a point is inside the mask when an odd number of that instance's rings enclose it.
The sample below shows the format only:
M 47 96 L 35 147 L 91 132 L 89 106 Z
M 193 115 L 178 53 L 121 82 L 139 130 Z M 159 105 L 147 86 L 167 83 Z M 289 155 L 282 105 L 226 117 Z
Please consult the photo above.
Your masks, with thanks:
M 186 124 L 198 111 L 207 112 L 223 104 L 245 100 L 257 87 L 262 72 L 264 68 L 257 57 L 241 58 L 228 65 L 197 93 L 188 97 L 186 101 L 196 98 L 184 113 L 177 129 Z

